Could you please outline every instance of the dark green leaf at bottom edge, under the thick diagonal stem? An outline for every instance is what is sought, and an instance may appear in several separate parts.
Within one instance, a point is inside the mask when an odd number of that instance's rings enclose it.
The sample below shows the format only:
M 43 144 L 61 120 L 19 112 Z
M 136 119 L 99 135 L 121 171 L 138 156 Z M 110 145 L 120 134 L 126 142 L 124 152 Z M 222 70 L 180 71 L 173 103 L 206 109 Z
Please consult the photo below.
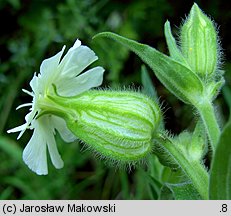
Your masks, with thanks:
M 168 190 L 167 190 L 167 188 Z M 176 200 L 200 200 L 201 197 L 193 187 L 191 183 L 184 182 L 180 184 L 165 184 L 164 188 L 162 189 L 161 199 L 167 198 L 170 196 L 169 193 L 172 193 L 172 196 Z

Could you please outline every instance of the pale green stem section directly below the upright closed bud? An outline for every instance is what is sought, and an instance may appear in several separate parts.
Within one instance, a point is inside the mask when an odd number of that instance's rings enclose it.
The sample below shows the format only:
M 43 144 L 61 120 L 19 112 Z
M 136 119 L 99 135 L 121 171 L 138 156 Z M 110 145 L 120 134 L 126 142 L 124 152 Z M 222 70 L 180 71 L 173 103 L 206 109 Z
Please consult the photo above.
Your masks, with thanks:
M 198 109 L 201 119 L 204 123 L 212 150 L 214 152 L 221 132 L 217 123 L 213 105 L 211 102 L 205 100 L 203 103 L 198 104 L 196 108 Z

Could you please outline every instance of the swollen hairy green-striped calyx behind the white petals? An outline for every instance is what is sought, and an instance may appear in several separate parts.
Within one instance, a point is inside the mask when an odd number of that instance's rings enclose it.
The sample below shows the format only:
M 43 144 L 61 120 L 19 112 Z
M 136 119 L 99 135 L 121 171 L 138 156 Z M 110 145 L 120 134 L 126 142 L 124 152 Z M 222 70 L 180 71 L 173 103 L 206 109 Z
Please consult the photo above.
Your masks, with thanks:
M 127 91 L 88 91 L 55 101 L 72 110 L 64 117 L 69 130 L 103 157 L 135 162 L 152 151 L 161 110 L 147 96 Z

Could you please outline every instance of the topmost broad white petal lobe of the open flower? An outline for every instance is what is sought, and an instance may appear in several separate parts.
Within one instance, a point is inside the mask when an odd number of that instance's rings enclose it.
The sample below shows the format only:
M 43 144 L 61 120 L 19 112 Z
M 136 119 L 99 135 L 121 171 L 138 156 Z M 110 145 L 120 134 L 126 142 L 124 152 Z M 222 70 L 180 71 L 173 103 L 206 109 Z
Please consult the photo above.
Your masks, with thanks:
M 66 77 L 75 77 L 87 66 L 96 61 L 98 57 L 87 46 L 75 46 L 68 50 L 59 67 L 61 74 Z

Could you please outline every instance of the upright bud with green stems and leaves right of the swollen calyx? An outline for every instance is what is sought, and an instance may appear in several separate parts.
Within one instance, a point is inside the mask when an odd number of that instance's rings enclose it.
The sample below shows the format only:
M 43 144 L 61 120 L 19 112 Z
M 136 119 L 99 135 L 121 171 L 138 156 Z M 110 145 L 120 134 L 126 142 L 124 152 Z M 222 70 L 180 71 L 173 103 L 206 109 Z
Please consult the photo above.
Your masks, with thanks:
M 175 137 L 160 134 L 153 139 L 154 153 L 162 164 L 181 170 L 185 175 L 182 182 L 167 184 L 175 198 L 229 199 L 229 172 L 224 172 L 229 170 L 230 162 L 223 151 L 228 148 L 230 129 L 227 125 L 221 135 L 213 107 L 224 84 L 220 70 L 222 53 L 213 22 L 194 4 L 181 27 L 178 45 L 167 21 L 165 37 L 170 56 L 114 33 L 95 36 L 101 37 L 111 38 L 135 52 L 171 93 L 197 110 L 196 115 L 200 118 L 193 133 L 182 132 Z M 212 160 L 210 172 L 203 162 L 205 155 L 210 155 Z

